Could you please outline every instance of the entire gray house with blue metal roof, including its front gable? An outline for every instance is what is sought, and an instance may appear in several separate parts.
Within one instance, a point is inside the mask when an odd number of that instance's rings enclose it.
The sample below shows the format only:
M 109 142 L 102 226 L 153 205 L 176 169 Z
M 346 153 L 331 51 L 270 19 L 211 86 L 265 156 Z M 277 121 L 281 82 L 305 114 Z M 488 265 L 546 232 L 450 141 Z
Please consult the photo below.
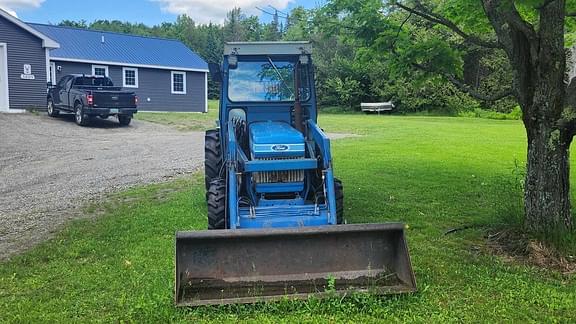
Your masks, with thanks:
M 208 111 L 208 66 L 177 40 L 23 23 L 0 10 L 0 109 L 44 107 L 46 83 L 72 73 L 110 77 L 136 93 L 140 111 Z

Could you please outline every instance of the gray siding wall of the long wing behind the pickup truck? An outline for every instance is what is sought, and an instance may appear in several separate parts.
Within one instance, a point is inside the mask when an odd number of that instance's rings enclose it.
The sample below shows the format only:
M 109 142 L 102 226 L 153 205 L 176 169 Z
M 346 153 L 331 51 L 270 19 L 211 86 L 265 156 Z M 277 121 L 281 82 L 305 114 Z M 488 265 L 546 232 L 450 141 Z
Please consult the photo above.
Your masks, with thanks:
M 92 74 L 91 63 L 53 61 L 61 70 L 56 79 L 67 74 Z M 108 76 L 117 86 L 123 85 L 122 65 L 108 65 Z M 186 94 L 172 94 L 171 70 L 138 68 L 138 88 L 124 88 L 138 96 L 139 111 L 204 112 L 206 85 L 204 72 L 186 71 Z

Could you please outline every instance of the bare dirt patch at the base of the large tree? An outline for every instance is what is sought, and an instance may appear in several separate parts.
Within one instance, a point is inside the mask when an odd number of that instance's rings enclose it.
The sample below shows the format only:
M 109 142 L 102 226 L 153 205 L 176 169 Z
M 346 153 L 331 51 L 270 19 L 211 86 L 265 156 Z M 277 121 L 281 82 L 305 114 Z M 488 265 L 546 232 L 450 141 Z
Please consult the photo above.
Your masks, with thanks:
M 487 245 L 491 253 L 508 262 L 558 271 L 565 275 L 576 274 L 576 256 L 562 255 L 556 249 L 522 233 L 502 230 L 489 234 Z

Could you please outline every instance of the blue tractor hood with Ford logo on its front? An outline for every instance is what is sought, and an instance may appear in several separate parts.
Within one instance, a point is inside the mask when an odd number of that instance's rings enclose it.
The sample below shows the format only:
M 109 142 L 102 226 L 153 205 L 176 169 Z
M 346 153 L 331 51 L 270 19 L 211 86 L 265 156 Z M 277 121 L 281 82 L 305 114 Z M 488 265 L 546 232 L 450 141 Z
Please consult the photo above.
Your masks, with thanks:
M 250 124 L 250 152 L 253 158 L 304 157 L 304 136 L 284 122 Z

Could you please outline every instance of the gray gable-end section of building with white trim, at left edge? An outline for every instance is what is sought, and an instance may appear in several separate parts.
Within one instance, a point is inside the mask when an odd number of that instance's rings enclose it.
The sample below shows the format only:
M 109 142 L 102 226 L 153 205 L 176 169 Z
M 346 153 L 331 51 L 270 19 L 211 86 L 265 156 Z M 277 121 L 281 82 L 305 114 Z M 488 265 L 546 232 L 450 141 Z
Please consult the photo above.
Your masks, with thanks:
M 59 44 L 0 9 L 0 112 L 46 106 L 50 50 Z

